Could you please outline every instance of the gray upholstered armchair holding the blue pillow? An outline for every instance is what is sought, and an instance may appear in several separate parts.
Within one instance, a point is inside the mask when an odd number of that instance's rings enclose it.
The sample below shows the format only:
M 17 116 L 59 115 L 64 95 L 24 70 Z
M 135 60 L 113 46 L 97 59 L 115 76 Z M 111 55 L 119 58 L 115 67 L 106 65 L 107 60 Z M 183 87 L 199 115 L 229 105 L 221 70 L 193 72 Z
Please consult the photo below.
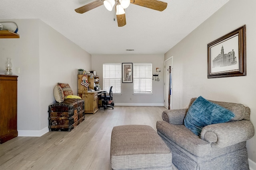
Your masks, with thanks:
M 246 140 L 254 136 L 250 108 L 209 101 L 229 109 L 235 117 L 226 123 L 205 126 L 200 137 L 184 126 L 187 108 L 166 110 L 162 113 L 164 121 L 157 121 L 157 132 L 172 151 L 172 163 L 179 170 L 249 169 Z

